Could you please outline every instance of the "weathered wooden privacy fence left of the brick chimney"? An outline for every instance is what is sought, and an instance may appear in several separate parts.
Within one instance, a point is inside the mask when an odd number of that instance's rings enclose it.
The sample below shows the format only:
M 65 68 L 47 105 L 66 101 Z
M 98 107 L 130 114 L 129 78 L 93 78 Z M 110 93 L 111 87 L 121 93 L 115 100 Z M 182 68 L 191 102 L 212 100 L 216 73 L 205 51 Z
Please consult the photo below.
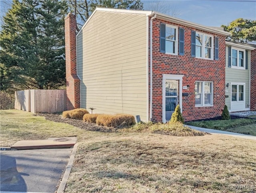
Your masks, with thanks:
M 66 90 L 15 91 L 15 109 L 32 113 L 66 111 Z

